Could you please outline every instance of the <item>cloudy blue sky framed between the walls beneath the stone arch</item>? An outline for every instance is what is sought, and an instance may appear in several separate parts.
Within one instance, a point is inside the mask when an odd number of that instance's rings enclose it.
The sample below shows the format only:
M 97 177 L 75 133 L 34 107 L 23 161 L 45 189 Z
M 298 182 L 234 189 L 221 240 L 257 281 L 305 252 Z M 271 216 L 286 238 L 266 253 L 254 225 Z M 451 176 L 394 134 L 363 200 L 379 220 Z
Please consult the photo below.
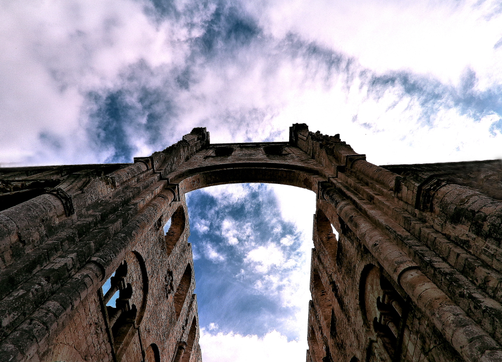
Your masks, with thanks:
M 314 193 L 222 185 L 187 204 L 203 357 L 303 360 Z

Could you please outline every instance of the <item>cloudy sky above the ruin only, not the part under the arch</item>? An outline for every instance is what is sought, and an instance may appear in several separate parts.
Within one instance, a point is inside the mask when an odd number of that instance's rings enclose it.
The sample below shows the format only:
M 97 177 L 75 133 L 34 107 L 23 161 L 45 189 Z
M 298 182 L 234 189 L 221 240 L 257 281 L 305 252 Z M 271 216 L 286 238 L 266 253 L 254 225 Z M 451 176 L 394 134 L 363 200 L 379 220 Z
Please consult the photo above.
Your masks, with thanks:
M 375 163 L 494 158 L 497 9 L 4 4 L 0 162 L 132 161 L 194 126 L 213 142 L 287 140 L 294 122 L 341 133 Z

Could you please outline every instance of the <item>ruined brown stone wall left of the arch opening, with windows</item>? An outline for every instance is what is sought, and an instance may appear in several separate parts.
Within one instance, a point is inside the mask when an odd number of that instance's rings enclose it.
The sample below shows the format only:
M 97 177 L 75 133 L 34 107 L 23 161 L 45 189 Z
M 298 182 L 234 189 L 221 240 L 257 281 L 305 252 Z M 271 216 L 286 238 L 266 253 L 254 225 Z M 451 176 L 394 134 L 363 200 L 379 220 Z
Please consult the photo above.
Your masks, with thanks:
M 207 143 L 196 133 L 169 165 Z M 0 360 L 200 360 L 185 199 L 152 157 L 0 169 Z M 116 308 L 101 290 L 114 272 Z

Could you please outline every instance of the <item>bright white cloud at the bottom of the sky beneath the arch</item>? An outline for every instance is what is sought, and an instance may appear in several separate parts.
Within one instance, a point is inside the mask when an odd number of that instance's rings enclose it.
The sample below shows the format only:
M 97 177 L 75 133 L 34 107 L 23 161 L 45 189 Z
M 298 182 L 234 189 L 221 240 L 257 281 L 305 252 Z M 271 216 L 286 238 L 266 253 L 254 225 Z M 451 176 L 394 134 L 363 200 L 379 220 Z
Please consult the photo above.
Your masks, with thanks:
M 211 334 L 200 330 L 200 346 L 204 362 L 304 361 L 308 348 L 305 339 L 288 341 L 278 331 L 263 338 L 237 333 Z

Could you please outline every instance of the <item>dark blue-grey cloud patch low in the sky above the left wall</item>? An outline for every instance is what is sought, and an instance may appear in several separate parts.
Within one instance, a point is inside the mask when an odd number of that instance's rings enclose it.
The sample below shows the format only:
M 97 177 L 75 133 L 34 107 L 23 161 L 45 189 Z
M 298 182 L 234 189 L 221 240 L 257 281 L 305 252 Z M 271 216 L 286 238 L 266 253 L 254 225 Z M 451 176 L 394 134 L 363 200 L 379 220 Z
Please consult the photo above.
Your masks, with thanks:
M 163 131 L 176 116 L 170 99 L 176 86 L 152 85 L 152 80 L 154 72 L 140 62 L 123 76 L 122 87 L 87 95 L 87 134 L 98 150 L 111 152 L 105 162 L 132 162 L 139 140 L 158 149 L 167 146 Z

